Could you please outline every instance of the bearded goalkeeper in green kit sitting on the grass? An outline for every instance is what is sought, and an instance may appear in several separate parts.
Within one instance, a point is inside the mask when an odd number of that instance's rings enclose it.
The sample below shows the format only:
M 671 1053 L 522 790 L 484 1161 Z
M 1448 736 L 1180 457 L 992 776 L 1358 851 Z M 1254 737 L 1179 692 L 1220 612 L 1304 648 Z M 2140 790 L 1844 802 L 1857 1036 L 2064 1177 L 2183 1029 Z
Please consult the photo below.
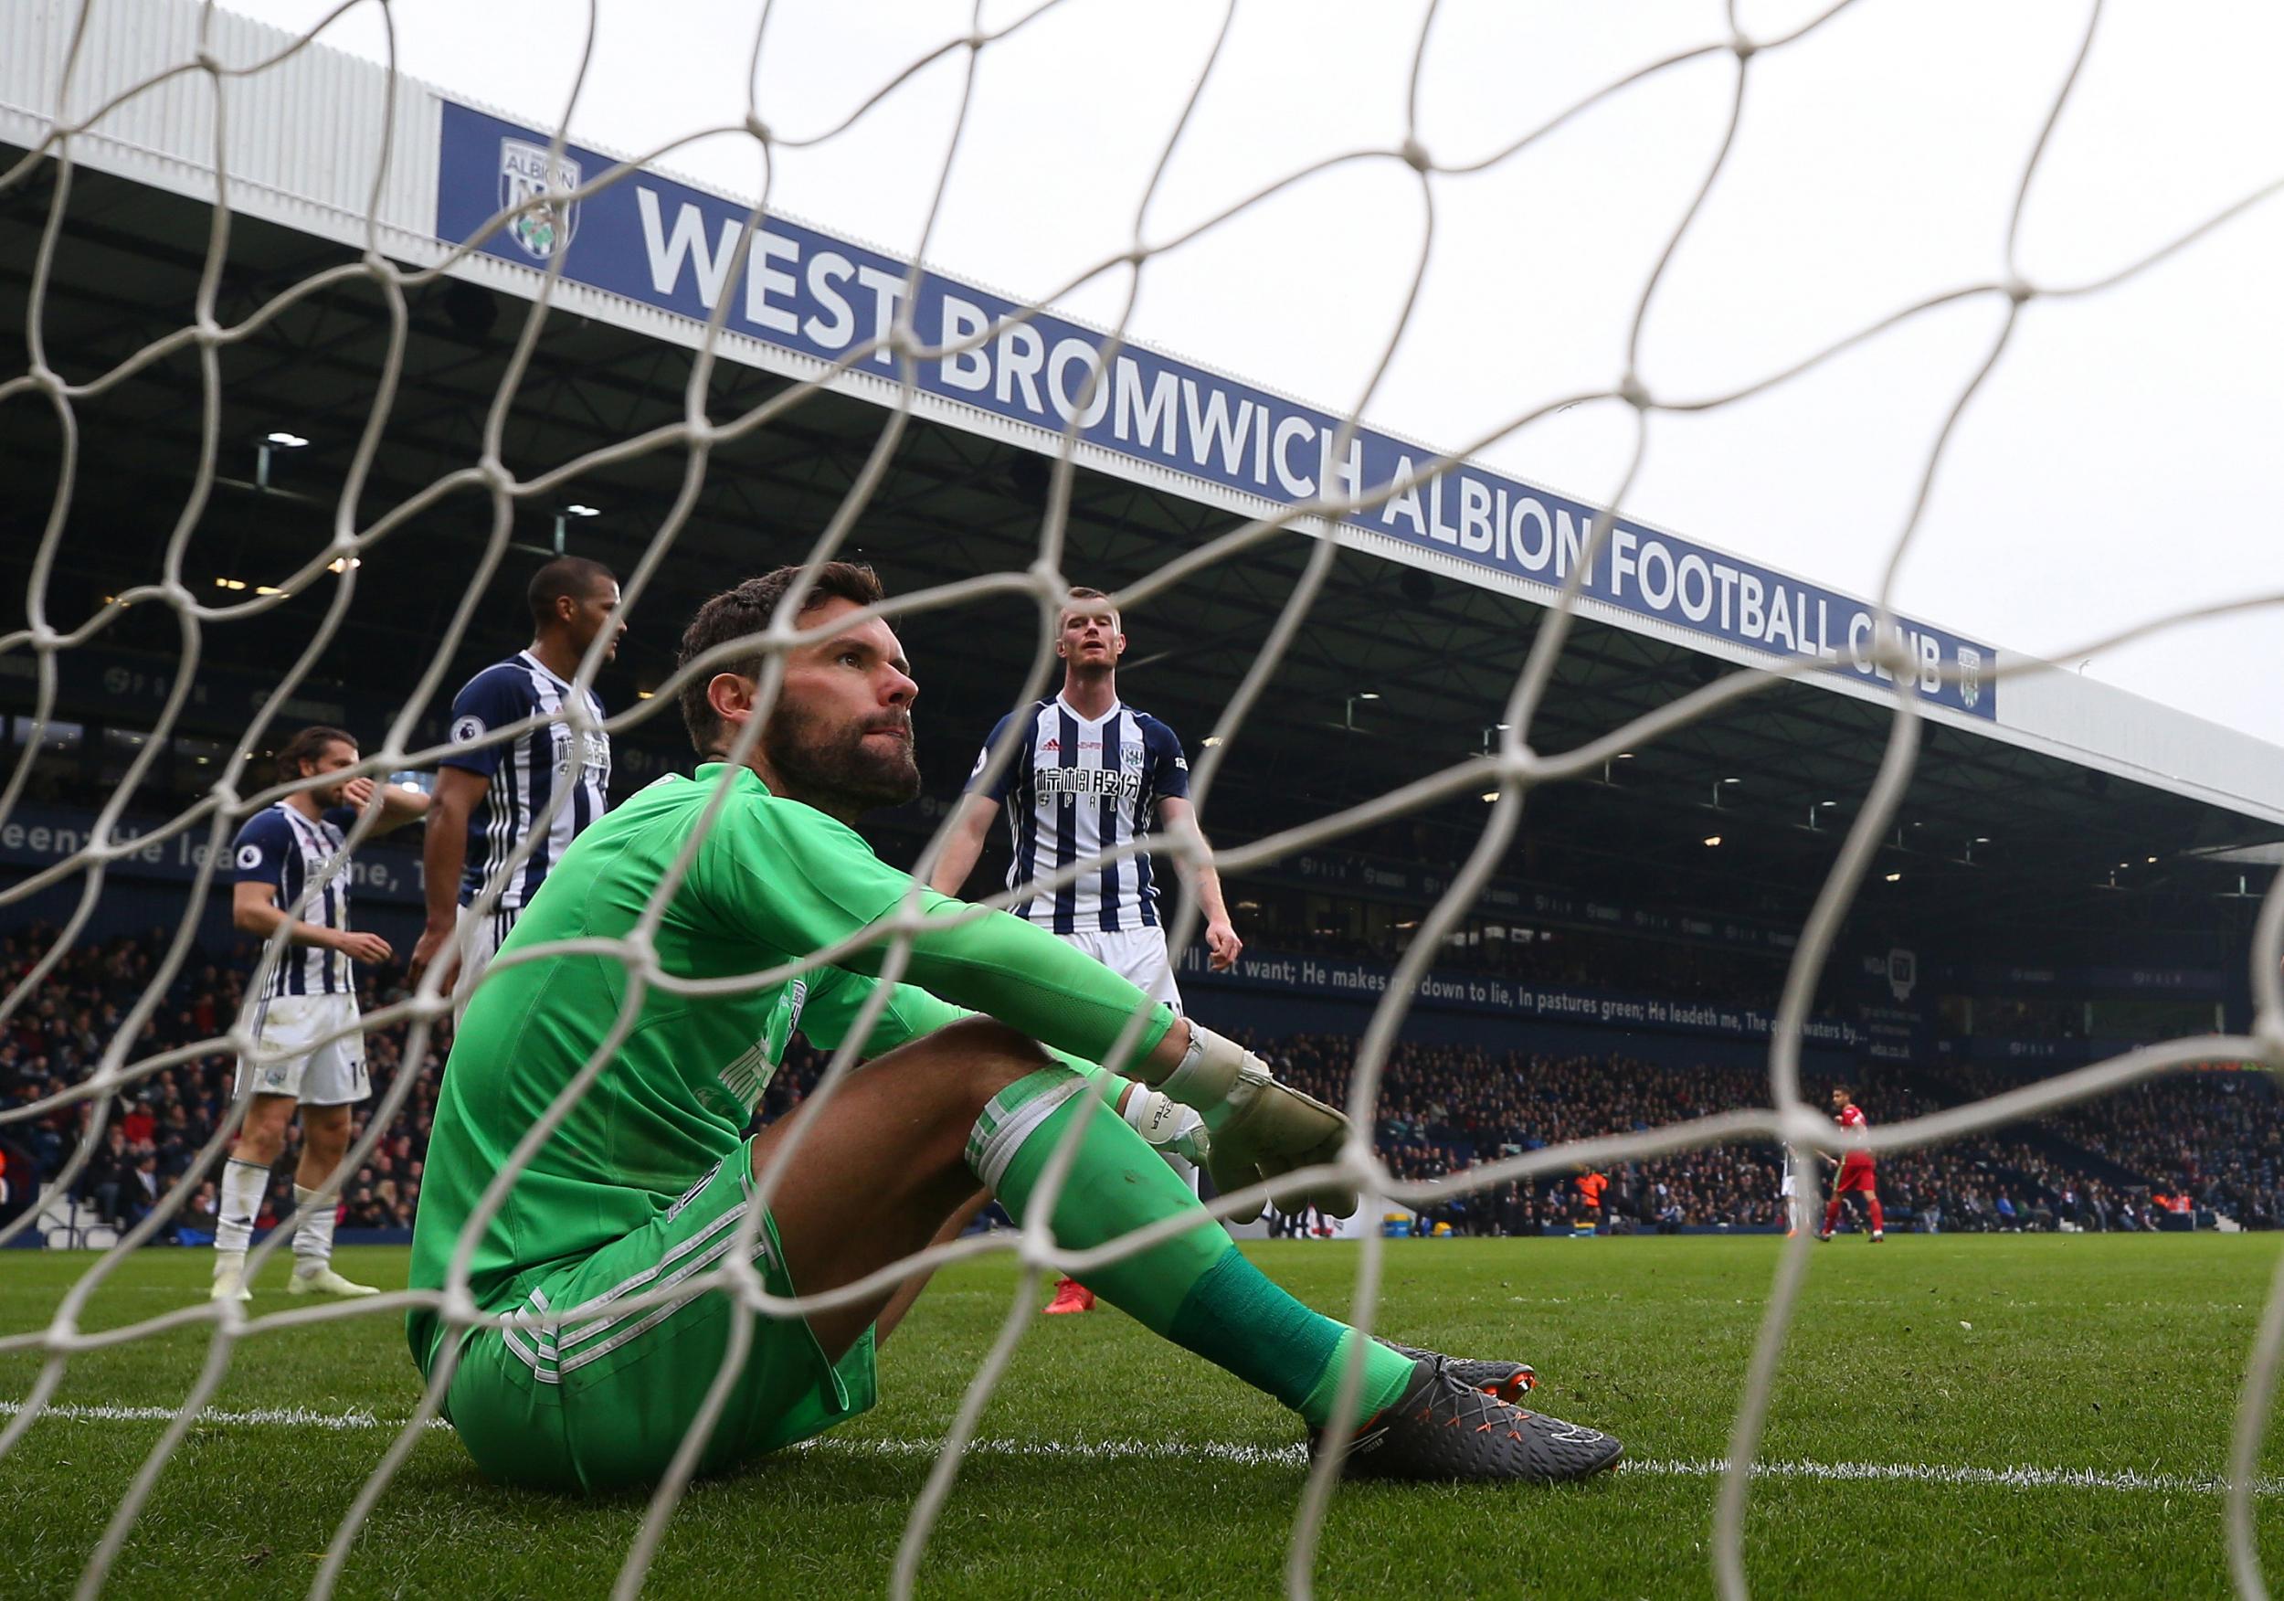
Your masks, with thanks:
M 788 566 L 717 594 L 683 635 L 683 660 L 758 635 L 795 578 Z M 884 619 L 836 626 L 882 601 L 870 569 L 834 562 L 811 585 L 799 626 L 818 637 L 786 653 L 781 694 L 745 765 L 726 770 L 724 758 L 754 717 L 758 653 L 683 687 L 697 774 L 651 783 L 580 834 L 500 962 L 539 943 L 633 932 L 724 779 L 729 795 L 658 927 L 660 968 L 685 980 L 761 973 L 895 914 L 911 877 L 882 863 L 850 822 L 918 795 L 918 687 Z M 925 888 L 918 904 L 964 909 Z M 820 1048 L 843 1044 L 884 955 L 879 941 L 770 989 L 642 998 L 601 1073 L 475 1236 L 471 1293 L 507 1327 L 455 1332 L 432 1309 L 407 1318 L 423 1375 L 448 1338 L 459 1341 L 445 1411 L 477 1466 L 502 1482 L 578 1491 L 665 1473 L 722 1368 L 733 1320 L 754 1318 L 722 1290 L 671 1290 L 717 1270 L 738 1245 L 756 1174 L 795 1126 L 806 1131 L 751 1233 L 774 1295 L 834 1290 L 911 1256 L 964 1220 L 980 1190 L 1030 1222 L 1048 1158 L 1076 1121 L 1076 1162 L 1051 1213 L 1055 1240 L 1094 1247 L 1192 1217 L 1149 1249 L 1089 1268 L 1087 1284 L 1297 1411 L 1316 1450 L 1359 1336 L 1270 1284 L 1151 1137 L 1179 1140 L 1222 1190 L 1236 1190 L 1334 1160 L 1348 1121 L 1046 930 L 991 911 L 918 934 L 907 980 L 859 1048 L 863 1067 L 811 1103 L 813 1115 L 804 1108 L 747 1140 L 793 1030 Z M 443 1076 L 413 1288 L 443 1288 L 477 1197 L 601 1048 L 626 991 L 626 964 L 608 955 L 491 968 Z M 1110 1060 L 1144 1009 L 1126 1060 Z M 1099 1087 L 1103 1069 L 1131 1083 Z M 1334 1213 L 1357 1206 L 1354 1192 L 1322 1188 L 1306 1199 Z M 756 1318 L 699 1471 L 866 1411 L 875 1350 L 918 1290 L 907 1279 L 852 1306 Z M 621 1311 L 658 1293 L 667 1300 Z M 1512 1405 L 1528 1384 L 1521 1363 L 1361 1341 L 1357 1437 L 1343 1469 L 1546 1482 L 1617 1459 L 1608 1434 Z

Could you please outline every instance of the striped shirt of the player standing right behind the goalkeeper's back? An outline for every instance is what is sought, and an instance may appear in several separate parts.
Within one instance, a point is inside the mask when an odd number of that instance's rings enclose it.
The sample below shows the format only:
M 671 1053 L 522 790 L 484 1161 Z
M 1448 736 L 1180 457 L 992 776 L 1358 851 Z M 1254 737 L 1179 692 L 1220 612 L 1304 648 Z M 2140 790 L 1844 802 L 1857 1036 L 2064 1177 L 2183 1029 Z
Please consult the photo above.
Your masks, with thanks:
M 491 729 L 505 729 L 534 713 L 560 715 L 569 697 L 569 683 L 541 667 L 530 651 L 516 651 L 480 671 L 452 699 L 452 745 L 471 749 L 452 751 L 441 765 L 491 779 L 482 804 L 468 813 L 468 859 L 459 875 L 459 904 L 475 900 L 491 870 L 532 831 L 532 820 L 546 811 L 557 783 L 571 783 L 571 795 L 548 824 L 548 836 L 532 847 L 500 891 L 502 914 L 530 904 L 548 868 L 562 861 L 580 829 L 601 818 L 610 804 L 610 735 L 601 729 L 587 733 L 578 751 L 573 745 L 582 735 L 562 722 L 530 729 L 507 745 L 477 745 Z M 587 690 L 587 710 L 596 719 L 603 717 L 603 701 L 594 690 Z

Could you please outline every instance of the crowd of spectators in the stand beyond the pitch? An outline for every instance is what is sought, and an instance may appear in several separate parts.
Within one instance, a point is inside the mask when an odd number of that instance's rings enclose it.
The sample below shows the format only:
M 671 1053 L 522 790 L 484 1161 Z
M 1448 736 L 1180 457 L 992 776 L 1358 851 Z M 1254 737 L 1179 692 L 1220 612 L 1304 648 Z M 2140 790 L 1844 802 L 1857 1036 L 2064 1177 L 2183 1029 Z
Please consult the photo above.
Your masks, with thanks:
M 14 991 L 48 950 L 53 934 L 0 936 L 0 989 Z M 162 936 L 112 939 L 71 950 L 0 1028 L 0 1110 L 48 1103 L 39 1117 L 0 1124 L 0 1153 L 16 1194 L 59 1172 L 94 1121 L 94 1101 L 66 1099 L 114 1048 L 126 1016 L 151 984 Z M 137 1062 L 215 1039 L 238 1016 L 254 950 L 199 955 L 183 964 L 162 1003 L 139 1023 L 119 1060 Z M 359 968 L 361 1005 L 372 1012 L 400 996 L 402 973 Z M 379 1105 L 397 1076 L 413 1073 L 388 1133 L 343 1188 L 343 1226 L 407 1229 L 420 1197 L 448 1028 L 432 1032 L 425 1060 L 407 1064 L 407 1030 L 365 1037 Z M 1336 1105 L 1348 1099 L 1357 1041 L 1293 1035 L 1252 1041 L 1279 1078 Z M 761 1105 L 761 1121 L 783 1115 L 815 1085 L 825 1057 L 799 1039 Z M 194 1053 L 139 1073 L 112 1101 L 100 1144 L 75 1181 L 75 1199 L 119 1226 L 132 1226 L 215 1142 L 231 1105 L 233 1057 Z M 1857 1085 L 1873 1124 L 1893 1124 L 1937 1105 L 2012 1087 L 1989 1069 L 1944 1064 L 1937 1073 L 1882 1069 Z M 1829 1085 L 1811 1080 L 1820 1103 Z M 1542 1233 L 1608 1224 L 1619 1229 L 1782 1226 L 1782 1151 L 1734 1144 L 1628 1160 L 1587 1174 L 1562 1167 L 1533 1181 L 1469 1188 L 1480 1162 L 1610 1133 L 1635 1133 L 1715 1112 L 1766 1105 L 1759 1067 L 1676 1067 L 1626 1055 L 1535 1055 L 1482 1046 L 1400 1044 L 1380 1080 L 1375 1144 L 1402 1181 L 1450 1185 L 1416 1210 L 1453 1233 Z M 354 1133 L 363 1135 L 363 1108 Z M 272 1176 L 263 1222 L 290 1210 L 297 1147 Z M 2113 1094 L 2042 1119 L 1944 1147 L 1889 1153 L 1880 1190 L 1889 1226 L 1919 1229 L 2142 1229 L 2177 1208 L 2275 1226 L 2284 1165 L 2277 1096 L 2261 1073 L 2190 1073 Z M 206 1165 L 167 1231 L 199 1238 L 212 1229 L 215 1183 Z M 1587 1183 L 1581 1185 L 1581 1178 Z

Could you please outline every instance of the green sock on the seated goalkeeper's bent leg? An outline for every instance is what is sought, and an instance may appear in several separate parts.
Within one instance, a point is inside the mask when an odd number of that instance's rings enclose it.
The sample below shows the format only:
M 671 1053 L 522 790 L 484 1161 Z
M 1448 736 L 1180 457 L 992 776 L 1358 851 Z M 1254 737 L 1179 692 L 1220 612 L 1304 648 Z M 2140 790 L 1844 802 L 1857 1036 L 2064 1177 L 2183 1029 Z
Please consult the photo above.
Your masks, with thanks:
M 1055 1201 L 1057 1242 L 1085 1249 L 1176 1213 L 1197 1215 L 1195 1229 L 1108 1268 L 1089 1268 L 1087 1288 L 1322 1427 L 1354 1329 L 1270 1284 L 1149 1142 L 1085 1089 L 1085 1078 L 1060 1067 L 1007 1085 L 975 1119 L 968 1167 L 1016 1222 L 1028 1222 L 1039 1174 L 1071 1119 L 1083 1117 L 1078 1153 Z M 1409 1359 L 1366 1341 L 1357 1416 L 1380 1411 L 1409 1382 Z

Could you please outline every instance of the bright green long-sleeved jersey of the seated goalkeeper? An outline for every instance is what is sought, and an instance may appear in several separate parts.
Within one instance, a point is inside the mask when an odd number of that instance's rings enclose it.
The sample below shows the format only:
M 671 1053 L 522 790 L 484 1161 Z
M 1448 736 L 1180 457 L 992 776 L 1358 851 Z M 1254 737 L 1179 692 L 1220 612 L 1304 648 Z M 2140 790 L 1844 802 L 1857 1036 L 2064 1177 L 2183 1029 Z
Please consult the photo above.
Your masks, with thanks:
M 436 1099 L 411 1286 L 443 1288 L 461 1229 L 516 1142 L 546 1115 L 610 1037 L 628 1003 L 614 955 L 573 952 L 502 966 L 530 946 L 619 939 L 633 932 L 699 827 L 724 765 L 667 777 L 605 813 L 548 872 L 468 1003 Z M 692 856 L 656 934 L 674 978 L 738 978 L 790 964 L 882 920 L 911 877 L 879 861 L 843 822 L 770 795 L 754 772 L 729 774 L 729 795 Z M 930 914 L 962 902 L 920 891 Z M 886 957 L 886 941 L 834 966 L 735 993 L 649 989 L 610 1060 L 562 1124 L 514 1176 L 471 1256 L 484 1311 L 521 1286 L 651 1222 L 740 1151 L 754 1105 L 799 1028 L 820 1048 L 854 1028 Z M 879 1055 L 962 1016 L 987 1012 L 1087 1062 L 1105 1062 L 1137 1009 L 1151 1009 L 1133 1055 L 1149 1053 L 1174 1014 L 1060 939 L 1003 911 L 927 930 L 907 980 L 861 1046 Z M 427 1373 L 441 1318 L 407 1318 Z

